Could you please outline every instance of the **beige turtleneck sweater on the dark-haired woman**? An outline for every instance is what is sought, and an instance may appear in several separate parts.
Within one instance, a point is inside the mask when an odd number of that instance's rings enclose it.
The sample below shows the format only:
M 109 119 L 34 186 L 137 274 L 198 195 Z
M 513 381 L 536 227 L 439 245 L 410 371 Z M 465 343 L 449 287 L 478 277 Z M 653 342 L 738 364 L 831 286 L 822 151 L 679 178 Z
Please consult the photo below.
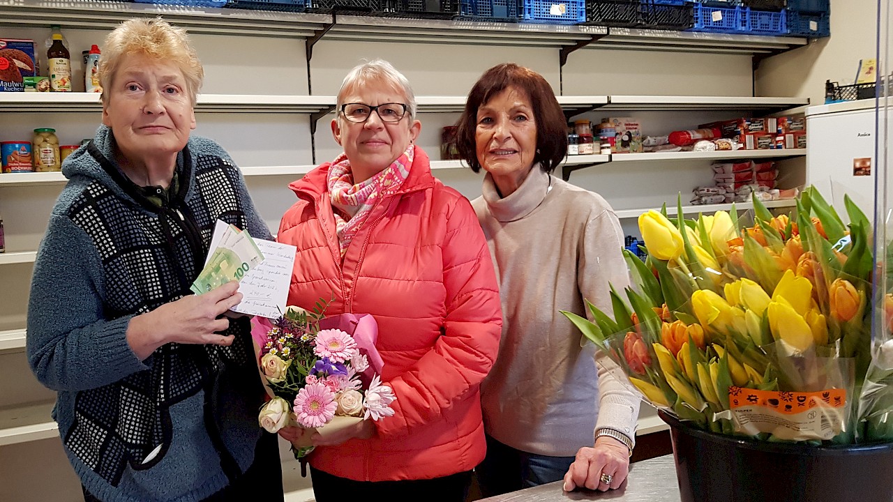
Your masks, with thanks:
M 580 347 L 580 331 L 558 312 L 591 319 L 583 298 L 610 312 L 608 284 L 629 285 L 611 206 L 538 167 L 505 198 L 487 174 L 472 205 L 503 307 L 499 355 L 480 387 L 487 433 L 547 456 L 576 455 L 603 427 L 635 441 L 638 397 L 597 369 L 595 347 Z

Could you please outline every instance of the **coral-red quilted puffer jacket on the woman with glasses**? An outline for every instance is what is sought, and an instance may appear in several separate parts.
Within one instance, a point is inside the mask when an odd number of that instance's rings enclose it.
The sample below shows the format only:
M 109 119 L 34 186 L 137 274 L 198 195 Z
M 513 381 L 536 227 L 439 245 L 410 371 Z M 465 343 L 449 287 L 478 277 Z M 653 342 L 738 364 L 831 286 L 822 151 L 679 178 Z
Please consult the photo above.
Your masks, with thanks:
M 435 180 L 415 147 L 409 177 L 384 192 L 338 259 L 329 163 L 289 188 L 298 202 L 278 239 L 297 247 L 288 305 L 335 297 L 327 314 L 372 314 L 394 389 L 394 416 L 372 439 L 316 448 L 313 467 L 355 481 L 423 480 L 470 471 L 484 458 L 480 381 L 499 348 L 499 292 L 469 202 Z

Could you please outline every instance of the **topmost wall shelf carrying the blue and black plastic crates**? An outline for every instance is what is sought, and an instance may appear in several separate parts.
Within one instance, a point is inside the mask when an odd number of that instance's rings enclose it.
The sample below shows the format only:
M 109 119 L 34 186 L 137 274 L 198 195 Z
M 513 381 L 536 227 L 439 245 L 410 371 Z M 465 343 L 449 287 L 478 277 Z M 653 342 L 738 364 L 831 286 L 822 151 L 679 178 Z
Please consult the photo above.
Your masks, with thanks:
M 329 14 L 212 9 L 100 0 L 0 0 L 0 25 L 59 24 L 63 29 L 113 29 L 133 17 L 162 15 L 193 33 L 312 38 Z M 325 40 L 484 46 L 577 46 L 730 54 L 772 54 L 803 46 L 805 38 L 723 35 L 660 29 L 606 29 L 497 21 L 441 21 L 338 15 Z

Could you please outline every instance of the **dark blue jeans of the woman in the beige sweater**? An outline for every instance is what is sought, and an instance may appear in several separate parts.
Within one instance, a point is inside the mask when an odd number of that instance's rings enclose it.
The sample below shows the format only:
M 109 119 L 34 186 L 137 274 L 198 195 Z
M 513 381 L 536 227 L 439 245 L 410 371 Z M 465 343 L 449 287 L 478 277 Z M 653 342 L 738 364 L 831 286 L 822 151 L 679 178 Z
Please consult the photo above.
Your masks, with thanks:
M 480 494 L 494 497 L 553 481 L 561 481 L 573 456 L 527 453 L 487 436 L 487 456 L 474 469 Z

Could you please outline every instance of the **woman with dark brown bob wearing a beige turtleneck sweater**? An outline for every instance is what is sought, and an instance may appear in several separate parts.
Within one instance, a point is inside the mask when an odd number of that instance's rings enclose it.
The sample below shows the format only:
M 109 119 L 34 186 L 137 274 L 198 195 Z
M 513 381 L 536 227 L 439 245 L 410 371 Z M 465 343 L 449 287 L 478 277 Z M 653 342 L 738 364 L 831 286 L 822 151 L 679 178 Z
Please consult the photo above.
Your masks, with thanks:
M 608 309 L 609 283 L 629 283 L 620 222 L 605 199 L 550 174 L 567 151 L 565 118 L 535 71 L 505 63 L 484 72 L 457 144 L 474 172 L 487 172 L 472 206 L 503 307 L 499 355 L 481 384 L 482 494 L 562 478 L 565 490 L 616 489 L 629 473 L 639 400 L 558 311 L 586 315 L 584 298 Z

